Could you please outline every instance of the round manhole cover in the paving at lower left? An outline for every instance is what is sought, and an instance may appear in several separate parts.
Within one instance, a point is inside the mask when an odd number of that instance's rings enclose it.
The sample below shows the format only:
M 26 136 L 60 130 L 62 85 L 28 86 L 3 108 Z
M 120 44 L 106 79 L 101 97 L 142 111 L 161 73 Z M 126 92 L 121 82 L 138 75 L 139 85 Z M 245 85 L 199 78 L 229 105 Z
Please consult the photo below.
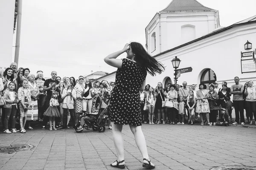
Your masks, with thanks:
M 13 153 L 13 152 L 31 150 L 34 147 L 35 146 L 33 146 L 32 144 L 7 144 L 7 145 L 0 146 L 0 152 Z

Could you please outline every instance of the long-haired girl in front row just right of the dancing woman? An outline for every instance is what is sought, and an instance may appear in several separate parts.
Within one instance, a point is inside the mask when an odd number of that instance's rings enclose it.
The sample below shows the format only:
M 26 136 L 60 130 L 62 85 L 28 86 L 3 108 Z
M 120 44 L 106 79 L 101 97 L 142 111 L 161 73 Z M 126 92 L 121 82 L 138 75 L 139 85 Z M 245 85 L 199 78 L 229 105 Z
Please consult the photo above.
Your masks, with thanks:
M 154 93 L 154 88 L 150 87 L 147 95 L 147 103 L 148 103 L 148 120 L 149 125 L 154 125 L 154 108 L 156 103 L 156 96 Z M 145 104 L 146 105 L 146 104 Z

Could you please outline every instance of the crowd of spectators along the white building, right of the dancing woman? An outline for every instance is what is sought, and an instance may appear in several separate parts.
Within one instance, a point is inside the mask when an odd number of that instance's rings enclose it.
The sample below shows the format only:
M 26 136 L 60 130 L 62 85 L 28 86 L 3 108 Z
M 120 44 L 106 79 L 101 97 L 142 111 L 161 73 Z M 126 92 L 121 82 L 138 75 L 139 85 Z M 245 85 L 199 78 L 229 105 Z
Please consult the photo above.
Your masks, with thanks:
M 256 88 L 253 81 L 245 85 L 239 83 L 239 77 L 234 78 L 235 85 L 227 87 L 227 82 L 209 84 L 192 84 L 187 87 L 187 82 L 182 85 L 169 83 L 163 87 L 161 82 L 157 87 L 146 85 L 140 91 L 141 113 L 144 123 L 154 124 L 180 124 L 194 125 L 244 125 L 244 110 L 247 123 L 253 125 L 253 116 L 256 116 Z M 230 100 L 233 95 L 233 101 Z M 166 102 L 172 103 L 165 106 Z M 233 121 L 232 110 L 235 109 L 236 119 Z M 200 119 L 198 121 L 198 115 Z M 256 125 L 256 124 L 254 124 Z

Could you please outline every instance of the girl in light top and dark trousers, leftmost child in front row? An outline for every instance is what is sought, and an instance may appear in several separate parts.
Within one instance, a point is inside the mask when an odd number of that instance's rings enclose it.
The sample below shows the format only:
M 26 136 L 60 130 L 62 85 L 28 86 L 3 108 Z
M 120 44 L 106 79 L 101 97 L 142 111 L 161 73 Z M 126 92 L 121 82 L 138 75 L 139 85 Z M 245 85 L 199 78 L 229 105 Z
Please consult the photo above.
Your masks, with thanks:
M 5 100 L 5 105 L 3 106 L 5 109 L 5 120 L 4 120 L 4 128 L 5 130 L 3 131 L 4 133 L 16 133 L 17 131 L 15 130 L 15 115 L 17 111 L 17 94 L 14 91 L 16 89 L 16 84 L 15 82 L 10 82 L 8 85 L 8 88 L 3 94 L 3 99 Z M 11 121 L 11 128 L 12 132 L 9 131 L 8 128 L 8 123 L 9 119 Z

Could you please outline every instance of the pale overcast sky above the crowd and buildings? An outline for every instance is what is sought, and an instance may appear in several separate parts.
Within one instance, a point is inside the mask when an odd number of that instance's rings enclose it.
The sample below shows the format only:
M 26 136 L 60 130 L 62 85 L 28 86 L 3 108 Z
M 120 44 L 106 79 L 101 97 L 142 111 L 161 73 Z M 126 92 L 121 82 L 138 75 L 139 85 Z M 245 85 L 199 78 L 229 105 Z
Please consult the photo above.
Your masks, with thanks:
M 23 0 L 19 67 L 50 77 L 113 72 L 104 57 L 137 41 L 171 0 Z M 220 25 L 256 15 L 256 0 L 198 0 L 219 11 Z M 14 41 L 15 44 L 15 41 Z M 119 58 L 124 58 L 122 55 Z

